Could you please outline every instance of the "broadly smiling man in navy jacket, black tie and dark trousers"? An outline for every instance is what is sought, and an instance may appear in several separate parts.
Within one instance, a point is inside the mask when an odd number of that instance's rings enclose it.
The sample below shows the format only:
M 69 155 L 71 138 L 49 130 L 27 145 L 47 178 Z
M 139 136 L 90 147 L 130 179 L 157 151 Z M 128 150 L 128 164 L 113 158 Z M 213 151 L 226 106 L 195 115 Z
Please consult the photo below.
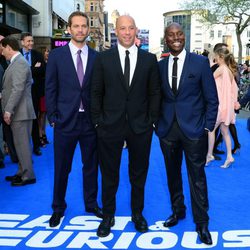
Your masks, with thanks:
M 204 167 L 207 131 L 214 129 L 218 110 L 215 81 L 208 59 L 184 49 L 185 35 L 179 24 L 166 27 L 165 42 L 170 56 L 159 63 L 163 99 L 157 135 L 165 159 L 173 214 L 164 226 L 174 226 L 186 216 L 181 174 L 184 152 L 196 231 L 200 240 L 210 245 Z

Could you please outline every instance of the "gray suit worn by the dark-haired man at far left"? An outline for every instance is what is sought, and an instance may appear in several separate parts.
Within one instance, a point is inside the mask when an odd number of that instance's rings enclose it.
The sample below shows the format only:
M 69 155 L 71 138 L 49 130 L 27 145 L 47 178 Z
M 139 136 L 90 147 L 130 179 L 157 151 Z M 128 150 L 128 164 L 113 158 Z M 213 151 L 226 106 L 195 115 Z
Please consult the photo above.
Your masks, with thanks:
M 16 173 L 23 180 L 34 179 L 30 134 L 35 112 L 31 98 L 32 76 L 28 62 L 19 54 L 3 76 L 2 111 L 11 113 L 11 130 L 19 159 Z

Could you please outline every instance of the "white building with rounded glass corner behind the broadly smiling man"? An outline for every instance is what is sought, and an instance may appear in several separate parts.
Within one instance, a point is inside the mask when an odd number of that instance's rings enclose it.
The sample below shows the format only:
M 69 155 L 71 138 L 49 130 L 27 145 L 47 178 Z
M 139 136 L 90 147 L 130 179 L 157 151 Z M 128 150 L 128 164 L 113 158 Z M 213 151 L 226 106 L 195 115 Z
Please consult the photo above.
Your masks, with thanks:
M 208 50 L 211 52 L 216 43 L 223 42 L 228 44 L 236 60 L 238 59 L 238 43 L 234 25 L 205 25 L 201 22 L 199 15 L 187 10 L 170 11 L 164 13 L 163 16 L 164 27 L 172 22 L 182 25 L 186 34 L 186 49 L 188 51 L 202 53 L 204 50 Z M 242 59 L 243 61 L 249 60 L 250 26 L 245 29 L 241 39 L 243 44 Z M 166 47 L 164 47 L 164 51 L 167 51 Z

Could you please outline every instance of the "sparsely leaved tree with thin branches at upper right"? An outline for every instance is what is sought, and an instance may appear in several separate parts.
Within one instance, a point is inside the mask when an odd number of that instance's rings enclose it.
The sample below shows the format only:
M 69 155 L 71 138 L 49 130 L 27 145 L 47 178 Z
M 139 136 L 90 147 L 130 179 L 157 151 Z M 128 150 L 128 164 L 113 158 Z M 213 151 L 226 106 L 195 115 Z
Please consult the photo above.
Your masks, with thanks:
M 212 25 L 235 25 L 238 58 L 242 62 L 241 34 L 250 24 L 250 0 L 186 0 L 182 8 L 199 14 L 203 22 Z

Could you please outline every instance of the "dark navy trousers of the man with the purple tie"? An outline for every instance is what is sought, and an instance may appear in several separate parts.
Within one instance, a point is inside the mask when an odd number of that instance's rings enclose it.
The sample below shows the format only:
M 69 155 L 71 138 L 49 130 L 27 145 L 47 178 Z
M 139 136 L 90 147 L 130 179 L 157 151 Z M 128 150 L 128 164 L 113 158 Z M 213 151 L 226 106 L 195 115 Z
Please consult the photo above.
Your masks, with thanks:
M 77 143 L 82 157 L 83 198 L 85 209 L 97 206 L 98 157 L 96 132 L 84 112 L 79 112 L 75 128 L 70 132 L 54 130 L 54 212 L 63 213 L 67 207 L 65 194 Z

